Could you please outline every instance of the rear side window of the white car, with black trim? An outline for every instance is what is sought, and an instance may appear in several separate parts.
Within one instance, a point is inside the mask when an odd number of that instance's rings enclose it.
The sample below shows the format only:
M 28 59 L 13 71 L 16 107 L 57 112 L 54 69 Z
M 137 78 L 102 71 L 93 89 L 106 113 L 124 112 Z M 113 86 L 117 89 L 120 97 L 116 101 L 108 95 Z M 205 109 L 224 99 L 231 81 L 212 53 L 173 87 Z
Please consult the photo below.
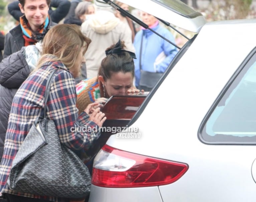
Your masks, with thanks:
M 256 144 L 256 54 L 227 83 L 199 129 L 209 144 Z

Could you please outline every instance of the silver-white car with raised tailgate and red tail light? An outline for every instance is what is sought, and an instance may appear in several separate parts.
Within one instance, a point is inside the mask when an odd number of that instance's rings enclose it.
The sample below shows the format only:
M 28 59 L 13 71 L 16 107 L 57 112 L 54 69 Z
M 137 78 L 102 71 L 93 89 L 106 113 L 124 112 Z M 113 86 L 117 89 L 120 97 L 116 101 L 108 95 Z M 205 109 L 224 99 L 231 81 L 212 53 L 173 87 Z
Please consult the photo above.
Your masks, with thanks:
M 95 157 L 90 202 L 255 202 L 256 20 L 120 0 L 195 34 Z

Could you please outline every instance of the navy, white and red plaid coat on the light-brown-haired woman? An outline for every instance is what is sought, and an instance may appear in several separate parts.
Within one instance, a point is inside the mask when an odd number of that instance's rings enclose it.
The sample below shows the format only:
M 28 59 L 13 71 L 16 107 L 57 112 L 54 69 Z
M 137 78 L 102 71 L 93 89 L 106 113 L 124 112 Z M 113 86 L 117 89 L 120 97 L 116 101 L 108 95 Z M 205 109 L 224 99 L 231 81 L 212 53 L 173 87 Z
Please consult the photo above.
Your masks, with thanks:
M 76 108 L 75 80 L 72 74 L 60 61 L 46 62 L 39 70 L 31 74 L 20 86 L 14 96 L 8 121 L 8 129 L 4 144 L 4 154 L 0 164 L 1 193 L 42 198 L 49 201 L 59 199 L 46 196 L 35 196 L 29 193 L 19 193 L 10 190 L 7 179 L 15 154 L 28 134 L 35 119 L 43 114 L 44 92 L 47 79 L 54 68 L 59 68 L 54 75 L 47 102 L 47 117 L 54 121 L 60 142 L 72 150 L 87 148 L 93 140 L 100 136 L 99 127 L 88 120 L 88 115 L 82 112 L 78 115 Z M 97 132 L 82 132 L 76 127 L 91 127 Z M 74 128 L 73 128 L 74 127 Z M 89 131 L 89 130 L 87 130 Z

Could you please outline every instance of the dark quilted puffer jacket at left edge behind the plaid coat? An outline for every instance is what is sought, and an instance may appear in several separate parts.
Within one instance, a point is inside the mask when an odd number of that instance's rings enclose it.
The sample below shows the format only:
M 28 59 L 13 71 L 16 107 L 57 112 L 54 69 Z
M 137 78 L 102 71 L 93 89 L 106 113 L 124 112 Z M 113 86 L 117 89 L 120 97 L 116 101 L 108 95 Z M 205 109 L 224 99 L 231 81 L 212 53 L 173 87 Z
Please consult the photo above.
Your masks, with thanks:
M 24 51 L 25 47 L 4 58 L 0 63 L 0 160 L 13 97 L 31 72 Z

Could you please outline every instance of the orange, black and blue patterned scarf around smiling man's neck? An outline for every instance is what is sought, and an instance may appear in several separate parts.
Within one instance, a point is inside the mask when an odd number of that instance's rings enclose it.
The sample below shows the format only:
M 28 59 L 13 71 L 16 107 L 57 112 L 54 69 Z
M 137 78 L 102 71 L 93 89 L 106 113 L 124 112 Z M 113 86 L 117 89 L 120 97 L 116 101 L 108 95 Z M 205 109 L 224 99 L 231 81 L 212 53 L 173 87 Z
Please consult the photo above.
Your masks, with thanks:
M 38 28 L 38 30 L 36 32 L 34 32 L 30 25 L 28 20 L 26 19 L 25 15 L 20 17 L 20 27 L 22 30 L 22 36 L 25 40 L 25 45 L 24 46 L 28 46 L 28 45 L 33 45 L 38 41 L 41 41 L 44 37 L 44 35 L 47 33 L 47 31 L 49 30 L 49 15 L 47 16 L 46 20 L 44 21 L 44 23 Z

